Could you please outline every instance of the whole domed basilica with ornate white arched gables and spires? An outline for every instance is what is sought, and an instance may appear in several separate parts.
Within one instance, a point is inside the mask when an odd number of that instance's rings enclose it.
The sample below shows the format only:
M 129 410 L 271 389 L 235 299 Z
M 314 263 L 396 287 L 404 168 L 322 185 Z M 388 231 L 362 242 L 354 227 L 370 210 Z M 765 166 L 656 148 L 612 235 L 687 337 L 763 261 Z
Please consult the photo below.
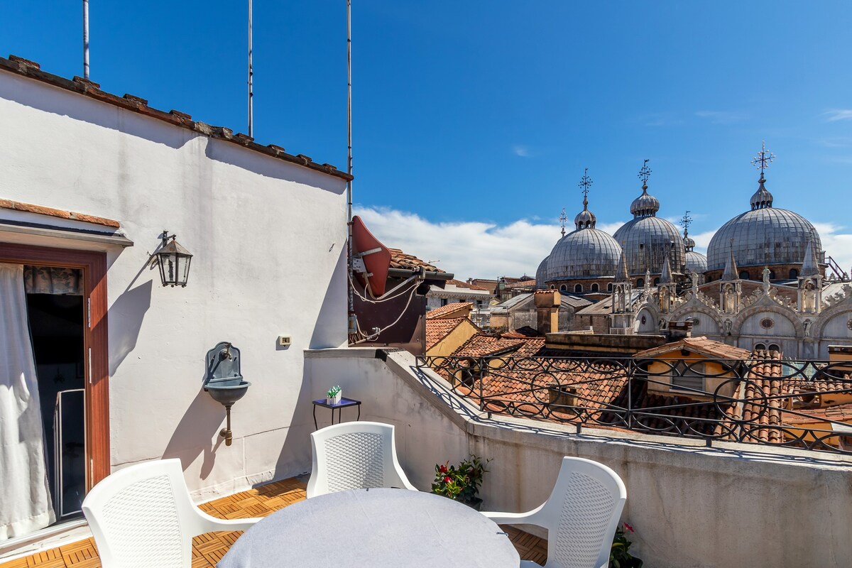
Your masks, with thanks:
M 717 231 L 706 256 L 694 251 L 688 215 L 683 235 L 656 216 L 646 161 L 634 218 L 609 237 L 595 228 L 584 197 L 576 230 L 538 267 L 537 287 L 603 295 L 577 314 L 596 333 L 659 334 L 688 321 L 694 335 L 736 347 L 827 359 L 829 345 L 852 345 L 852 282 L 836 265 L 826 277 L 826 254 L 808 220 L 773 207 L 763 175 L 771 159 L 765 149 L 758 154 L 751 209 Z M 580 185 L 587 195 L 586 176 Z

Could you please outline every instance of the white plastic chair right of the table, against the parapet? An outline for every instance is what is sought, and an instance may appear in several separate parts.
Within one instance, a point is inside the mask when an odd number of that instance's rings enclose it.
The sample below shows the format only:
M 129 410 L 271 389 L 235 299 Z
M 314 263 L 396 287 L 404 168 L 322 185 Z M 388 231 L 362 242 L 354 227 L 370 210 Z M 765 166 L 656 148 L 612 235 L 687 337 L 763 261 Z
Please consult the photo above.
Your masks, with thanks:
M 602 463 L 563 457 L 548 500 L 529 513 L 482 513 L 499 525 L 547 529 L 544 568 L 606 568 L 627 491 L 619 475 Z M 521 561 L 534 568 L 535 562 Z

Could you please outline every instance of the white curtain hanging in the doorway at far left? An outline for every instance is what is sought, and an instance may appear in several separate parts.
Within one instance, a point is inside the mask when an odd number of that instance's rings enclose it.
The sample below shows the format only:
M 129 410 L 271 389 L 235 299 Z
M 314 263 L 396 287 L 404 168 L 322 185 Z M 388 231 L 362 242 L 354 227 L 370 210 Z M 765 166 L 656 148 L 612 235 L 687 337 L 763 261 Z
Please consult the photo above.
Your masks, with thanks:
M 24 267 L 0 263 L 0 541 L 54 521 Z

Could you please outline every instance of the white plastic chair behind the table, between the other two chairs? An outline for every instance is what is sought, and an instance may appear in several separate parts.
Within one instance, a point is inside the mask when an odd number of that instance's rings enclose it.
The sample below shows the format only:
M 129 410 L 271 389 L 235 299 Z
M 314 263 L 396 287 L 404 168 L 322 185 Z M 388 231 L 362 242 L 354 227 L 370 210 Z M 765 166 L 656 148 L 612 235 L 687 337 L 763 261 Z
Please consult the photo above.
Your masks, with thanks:
M 372 487 L 417 491 L 396 459 L 394 427 L 381 422 L 344 422 L 311 433 L 314 450 L 308 499 Z

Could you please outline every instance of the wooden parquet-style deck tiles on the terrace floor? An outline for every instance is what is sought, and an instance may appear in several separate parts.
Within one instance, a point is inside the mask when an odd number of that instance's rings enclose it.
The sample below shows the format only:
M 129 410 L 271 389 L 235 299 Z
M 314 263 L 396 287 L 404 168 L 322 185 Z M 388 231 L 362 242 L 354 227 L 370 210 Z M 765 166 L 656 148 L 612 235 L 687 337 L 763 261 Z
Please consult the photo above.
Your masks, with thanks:
M 296 478 L 284 479 L 261 485 L 249 491 L 216 499 L 199 505 L 205 513 L 220 519 L 265 517 L 279 508 L 305 498 L 305 483 Z M 504 526 L 515 544 L 521 559 L 533 560 L 544 565 L 547 560 L 547 541 L 527 532 Z M 209 532 L 193 538 L 193 568 L 213 568 L 222 559 L 241 533 Z M 0 564 L 0 568 L 100 568 L 95 541 L 87 538 L 59 548 L 51 548 L 38 554 Z

